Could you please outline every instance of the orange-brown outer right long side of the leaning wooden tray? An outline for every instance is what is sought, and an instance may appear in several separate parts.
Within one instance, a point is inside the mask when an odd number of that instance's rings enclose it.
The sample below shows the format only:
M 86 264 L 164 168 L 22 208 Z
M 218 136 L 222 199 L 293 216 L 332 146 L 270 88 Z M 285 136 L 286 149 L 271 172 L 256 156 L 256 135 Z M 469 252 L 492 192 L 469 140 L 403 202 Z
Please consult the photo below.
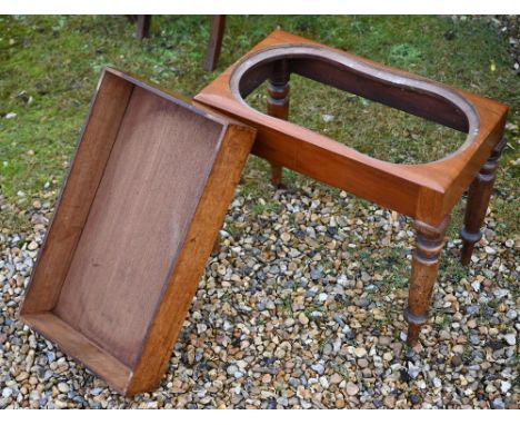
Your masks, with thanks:
M 184 245 L 144 340 L 128 395 L 154 388 L 164 374 L 253 140 L 253 129 L 228 126 Z

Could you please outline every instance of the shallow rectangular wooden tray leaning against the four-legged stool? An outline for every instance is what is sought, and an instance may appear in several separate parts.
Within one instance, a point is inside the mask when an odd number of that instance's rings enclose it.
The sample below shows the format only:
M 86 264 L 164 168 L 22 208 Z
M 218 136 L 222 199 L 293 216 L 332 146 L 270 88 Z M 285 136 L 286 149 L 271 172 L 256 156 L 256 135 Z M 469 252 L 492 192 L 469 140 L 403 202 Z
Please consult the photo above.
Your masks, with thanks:
M 158 386 L 254 134 L 104 69 L 21 319 L 121 394 Z

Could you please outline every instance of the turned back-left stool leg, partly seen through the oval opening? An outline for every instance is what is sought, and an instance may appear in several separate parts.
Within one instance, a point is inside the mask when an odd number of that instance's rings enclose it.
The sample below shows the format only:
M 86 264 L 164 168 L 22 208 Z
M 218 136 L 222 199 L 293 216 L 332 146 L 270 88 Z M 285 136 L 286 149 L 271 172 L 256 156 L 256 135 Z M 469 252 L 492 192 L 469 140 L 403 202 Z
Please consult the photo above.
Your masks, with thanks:
M 273 63 L 271 77 L 268 80 L 267 112 L 271 117 L 287 120 L 289 118 L 289 63 L 280 60 Z M 271 162 L 271 182 L 280 186 L 282 167 Z

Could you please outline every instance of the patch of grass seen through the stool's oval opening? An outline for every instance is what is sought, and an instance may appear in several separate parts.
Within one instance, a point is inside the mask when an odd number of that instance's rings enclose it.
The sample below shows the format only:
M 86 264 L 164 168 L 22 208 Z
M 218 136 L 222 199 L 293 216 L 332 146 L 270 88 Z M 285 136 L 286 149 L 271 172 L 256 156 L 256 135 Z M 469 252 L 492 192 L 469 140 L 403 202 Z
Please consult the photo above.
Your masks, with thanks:
M 249 105 L 266 111 L 266 85 Z M 300 76 L 291 76 L 289 119 L 373 158 L 428 162 L 456 150 L 467 135 Z

